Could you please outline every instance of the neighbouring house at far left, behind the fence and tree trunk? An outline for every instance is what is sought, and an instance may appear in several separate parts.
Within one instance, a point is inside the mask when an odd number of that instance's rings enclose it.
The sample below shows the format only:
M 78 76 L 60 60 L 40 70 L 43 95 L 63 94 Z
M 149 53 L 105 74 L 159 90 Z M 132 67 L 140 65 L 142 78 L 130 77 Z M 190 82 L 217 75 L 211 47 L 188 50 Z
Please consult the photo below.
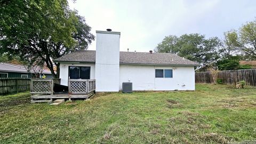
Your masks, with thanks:
M 39 71 L 36 71 L 36 73 L 40 73 Z M 46 78 L 52 78 L 52 74 L 50 70 L 43 70 L 40 77 L 43 75 L 46 76 Z M 4 63 L 0 62 L 0 78 L 2 77 L 21 77 L 21 78 L 31 78 L 35 76 L 35 72 L 31 70 L 28 72 L 28 70 L 22 66 L 22 65 L 14 65 L 12 63 Z

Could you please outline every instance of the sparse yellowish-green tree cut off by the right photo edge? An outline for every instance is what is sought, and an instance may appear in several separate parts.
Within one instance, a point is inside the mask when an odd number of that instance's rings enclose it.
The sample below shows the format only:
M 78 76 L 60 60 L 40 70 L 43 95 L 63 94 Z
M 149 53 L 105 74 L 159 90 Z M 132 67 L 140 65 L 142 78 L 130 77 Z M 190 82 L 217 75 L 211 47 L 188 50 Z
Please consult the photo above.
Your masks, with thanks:
M 228 41 L 236 46 L 248 59 L 256 60 L 256 20 L 245 23 L 238 31 L 228 31 Z

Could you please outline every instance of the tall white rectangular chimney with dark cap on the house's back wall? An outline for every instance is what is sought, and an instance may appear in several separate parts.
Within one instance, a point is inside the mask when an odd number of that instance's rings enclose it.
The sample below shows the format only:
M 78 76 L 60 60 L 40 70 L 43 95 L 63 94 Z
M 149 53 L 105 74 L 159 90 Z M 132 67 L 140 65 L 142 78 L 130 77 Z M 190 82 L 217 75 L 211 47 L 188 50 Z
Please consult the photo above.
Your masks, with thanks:
M 96 31 L 96 92 L 119 91 L 120 32 Z

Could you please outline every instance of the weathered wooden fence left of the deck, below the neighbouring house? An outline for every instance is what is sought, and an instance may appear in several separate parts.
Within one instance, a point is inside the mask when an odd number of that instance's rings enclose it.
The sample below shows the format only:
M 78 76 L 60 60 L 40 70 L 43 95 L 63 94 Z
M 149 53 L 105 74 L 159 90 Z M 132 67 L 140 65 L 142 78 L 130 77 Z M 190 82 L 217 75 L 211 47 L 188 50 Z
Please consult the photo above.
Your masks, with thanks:
M 28 91 L 30 78 L 0 78 L 0 94 Z

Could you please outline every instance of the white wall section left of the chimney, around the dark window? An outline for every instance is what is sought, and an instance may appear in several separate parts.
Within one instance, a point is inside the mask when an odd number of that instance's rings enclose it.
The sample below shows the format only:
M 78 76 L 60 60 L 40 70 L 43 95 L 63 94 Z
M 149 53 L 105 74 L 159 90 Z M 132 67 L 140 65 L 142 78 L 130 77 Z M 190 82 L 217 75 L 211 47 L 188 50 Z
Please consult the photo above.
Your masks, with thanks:
M 95 64 L 94 63 L 60 63 L 60 78 L 61 85 L 68 86 L 68 67 L 69 66 L 78 66 L 78 67 L 91 67 L 90 79 L 95 79 Z

